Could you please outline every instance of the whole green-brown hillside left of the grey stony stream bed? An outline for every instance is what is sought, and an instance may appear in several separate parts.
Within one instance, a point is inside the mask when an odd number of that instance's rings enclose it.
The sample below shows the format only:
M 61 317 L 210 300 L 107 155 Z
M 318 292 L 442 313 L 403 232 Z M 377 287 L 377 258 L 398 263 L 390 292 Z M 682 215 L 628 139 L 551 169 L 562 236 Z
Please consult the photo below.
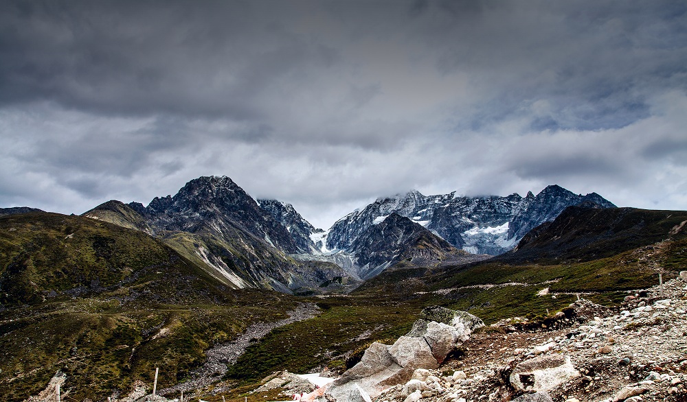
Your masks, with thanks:
M 22 401 L 67 373 L 71 400 L 183 379 L 214 342 L 285 318 L 294 301 L 235 291 L 157 239 L 86 217 L 0 218 L 0 394 Z

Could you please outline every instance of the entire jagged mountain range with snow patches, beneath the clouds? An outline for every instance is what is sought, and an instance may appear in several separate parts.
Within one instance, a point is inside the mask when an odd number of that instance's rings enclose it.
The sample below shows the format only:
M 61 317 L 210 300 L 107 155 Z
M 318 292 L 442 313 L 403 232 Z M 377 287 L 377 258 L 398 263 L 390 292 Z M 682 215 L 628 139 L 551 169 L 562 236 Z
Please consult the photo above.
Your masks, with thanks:
M 291 204 L 254 200 L 232 179 L 207 176 L 147 206 L 111 200 L 83 216 L 160 239 L 223 285 L 309 294 L 350 289 L 401 261 L 460 264 L 502 254 L 581 203 L 614 207 L 596 193 L 557 185 L 524 198 L 410 191 L 379 198 L 322 230 Z

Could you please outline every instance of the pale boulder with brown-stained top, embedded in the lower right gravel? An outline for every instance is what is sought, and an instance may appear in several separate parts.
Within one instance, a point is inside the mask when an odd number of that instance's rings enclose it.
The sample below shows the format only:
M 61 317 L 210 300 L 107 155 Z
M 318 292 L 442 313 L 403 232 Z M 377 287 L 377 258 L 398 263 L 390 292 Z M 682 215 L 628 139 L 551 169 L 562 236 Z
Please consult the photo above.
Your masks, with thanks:
M 572 366 L 570 357 L 540 356 L 517 364 L 510 374 L 510 384 L 519 391 L 526 390 L 528 386 L 537 392 L 548 391 L 580 375 Z

